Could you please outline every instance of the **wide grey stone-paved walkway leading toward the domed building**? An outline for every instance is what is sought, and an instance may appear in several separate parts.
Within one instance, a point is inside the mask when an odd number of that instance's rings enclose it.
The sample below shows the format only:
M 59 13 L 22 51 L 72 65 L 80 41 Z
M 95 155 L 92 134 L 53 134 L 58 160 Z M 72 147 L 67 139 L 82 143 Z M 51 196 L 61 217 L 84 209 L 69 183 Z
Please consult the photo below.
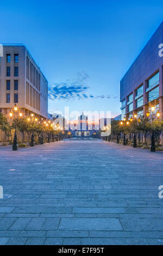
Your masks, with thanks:
M 163 245 L 163 154 L 103 141 L 0 148 L 0 245 Z

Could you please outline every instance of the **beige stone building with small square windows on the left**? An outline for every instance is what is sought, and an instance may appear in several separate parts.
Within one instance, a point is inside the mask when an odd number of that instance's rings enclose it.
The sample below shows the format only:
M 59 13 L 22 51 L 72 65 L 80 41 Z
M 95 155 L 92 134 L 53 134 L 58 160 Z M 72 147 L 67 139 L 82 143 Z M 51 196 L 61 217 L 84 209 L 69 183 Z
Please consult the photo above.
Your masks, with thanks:
M 8 116 L 14 104 L 24 116 L 48 118 L 48 82 L 27 48 L 3 45 L 0 61 L 0 112 Z

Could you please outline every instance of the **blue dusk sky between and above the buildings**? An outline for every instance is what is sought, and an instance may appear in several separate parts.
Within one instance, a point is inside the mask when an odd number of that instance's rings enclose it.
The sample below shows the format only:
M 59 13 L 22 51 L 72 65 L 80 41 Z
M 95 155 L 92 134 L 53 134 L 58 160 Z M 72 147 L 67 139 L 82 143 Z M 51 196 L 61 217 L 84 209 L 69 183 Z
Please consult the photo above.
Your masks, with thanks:
M 162 1 L 1 1 L 1 44 L 22 43 L 49 83 L 49 112 L 120 114 L 120 80 L 162 22 Z M 163 43 L 163 42 L 160 42 Z

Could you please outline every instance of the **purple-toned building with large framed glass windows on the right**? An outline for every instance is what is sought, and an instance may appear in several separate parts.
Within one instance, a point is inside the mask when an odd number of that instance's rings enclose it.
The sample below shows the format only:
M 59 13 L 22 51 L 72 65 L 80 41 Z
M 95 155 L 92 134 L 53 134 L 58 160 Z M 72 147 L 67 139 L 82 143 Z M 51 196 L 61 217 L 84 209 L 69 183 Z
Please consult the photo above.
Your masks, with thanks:
M 155 107 L 163 118 L 163 22 L 123 76 L 120 84 L 122 118 L 146 115 Z M 163 46 L 163 45 L 162 45 Z M 162 51 L 163 52 L 163 51 Z

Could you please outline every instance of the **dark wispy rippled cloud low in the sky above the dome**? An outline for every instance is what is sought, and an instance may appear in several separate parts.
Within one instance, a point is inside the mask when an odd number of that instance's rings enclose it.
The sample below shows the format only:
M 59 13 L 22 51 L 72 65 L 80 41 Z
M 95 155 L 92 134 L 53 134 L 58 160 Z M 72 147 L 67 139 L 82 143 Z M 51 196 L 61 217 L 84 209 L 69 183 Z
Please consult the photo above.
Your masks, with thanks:
M 78 73 L 74 81 L 66 80 L 62 83 L 54 83 L 49 87 L 48 97 L 51 100 L 82 100 L 82 99 L 110 99 L 110 95 L 92 95 L 87 94 L 86 90 L 89 89 L 86 85 L 89 75 L 85 72 Z M 116 97 L 114 97 L 115 99 Z

